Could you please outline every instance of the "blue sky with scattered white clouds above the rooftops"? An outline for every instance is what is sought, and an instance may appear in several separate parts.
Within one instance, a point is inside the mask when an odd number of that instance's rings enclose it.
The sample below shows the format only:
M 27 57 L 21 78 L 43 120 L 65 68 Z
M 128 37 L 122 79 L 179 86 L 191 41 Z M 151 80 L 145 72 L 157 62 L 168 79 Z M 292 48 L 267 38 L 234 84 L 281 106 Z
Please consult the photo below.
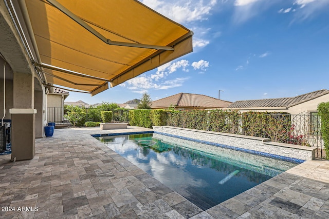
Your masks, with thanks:
M 329 0 L 142 0 L 194 32 L 193 52 L 95 96 L 124 103 L 196 93 L 226 101 L 329 89 Z

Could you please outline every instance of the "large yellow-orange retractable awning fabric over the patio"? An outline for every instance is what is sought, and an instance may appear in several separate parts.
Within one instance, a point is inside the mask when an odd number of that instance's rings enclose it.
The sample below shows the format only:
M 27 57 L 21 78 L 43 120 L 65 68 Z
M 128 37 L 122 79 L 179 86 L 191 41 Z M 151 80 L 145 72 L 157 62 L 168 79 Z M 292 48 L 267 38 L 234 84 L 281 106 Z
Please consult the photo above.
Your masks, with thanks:
M 78 17 L 78 21 L 56 4 Z M 25 20 L 29 19 L 30 35 L 38 47 L 34 50 L 38 50 L 40 64 L 76 72 L 69 74 L 43 66 L 47 82 L 92 95 L 106 90 L 107 82 L 114 87 L 192 52 L 189 29 L 138 1 L 25 0 L 20 7 L 26 9 Z M 102 41 L 79 21 L 108 41 Z M 109 45 L 112 42 L 161 48 Z

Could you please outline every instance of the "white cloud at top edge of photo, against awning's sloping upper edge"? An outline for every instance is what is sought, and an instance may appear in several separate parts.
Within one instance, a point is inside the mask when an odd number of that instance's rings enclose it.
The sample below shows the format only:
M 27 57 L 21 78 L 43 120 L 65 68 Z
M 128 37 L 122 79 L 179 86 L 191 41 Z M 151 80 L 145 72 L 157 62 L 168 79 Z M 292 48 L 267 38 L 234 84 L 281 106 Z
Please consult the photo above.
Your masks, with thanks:
M 217 0 L 141 0 L 141 2 L 178 23 L 207 19 L 212 7 L 217 4 Z

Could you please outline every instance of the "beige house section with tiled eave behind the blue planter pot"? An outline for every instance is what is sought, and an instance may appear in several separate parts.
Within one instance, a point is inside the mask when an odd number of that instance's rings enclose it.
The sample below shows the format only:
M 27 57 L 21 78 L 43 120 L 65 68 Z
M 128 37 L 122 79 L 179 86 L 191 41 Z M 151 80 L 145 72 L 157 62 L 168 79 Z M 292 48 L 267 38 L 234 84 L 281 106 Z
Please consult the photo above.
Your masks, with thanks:
M 63 122 L 64 101 L 69 92 L 60 88 L 52 88 L 52 93 L 47 94 L 47 121 Z

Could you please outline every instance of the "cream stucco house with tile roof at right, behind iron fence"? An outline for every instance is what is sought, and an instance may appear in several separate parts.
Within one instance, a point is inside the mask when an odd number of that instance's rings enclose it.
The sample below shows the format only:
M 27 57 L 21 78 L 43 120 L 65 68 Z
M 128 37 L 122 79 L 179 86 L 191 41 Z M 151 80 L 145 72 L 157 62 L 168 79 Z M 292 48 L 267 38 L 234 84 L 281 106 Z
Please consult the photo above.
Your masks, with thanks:
M 317 90 L 294 97 L 253 99 L 236 101 L 227 109 L 258 112 L 286 112 L 291 116 L 284 116 L 291 121 L 295 136 L 302 136 L 304 144 L 319 146 L 321 140 L 321 122 L 317 115 L 319 103 L 329 101 L 329 90 Z M 288 130 L 291 131 L 291 130 Z

